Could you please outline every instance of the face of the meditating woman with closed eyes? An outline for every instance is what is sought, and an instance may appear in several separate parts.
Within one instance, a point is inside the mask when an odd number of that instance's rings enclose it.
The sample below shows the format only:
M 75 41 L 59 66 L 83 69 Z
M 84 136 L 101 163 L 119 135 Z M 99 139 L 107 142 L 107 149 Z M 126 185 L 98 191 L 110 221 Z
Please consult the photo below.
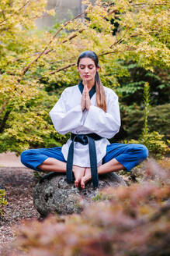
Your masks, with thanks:
M 84 81 L 94 80 L 95 82 L 95 73 L 98 69 L 90 58 L 82 58 L 78 65 L 78 72 Z

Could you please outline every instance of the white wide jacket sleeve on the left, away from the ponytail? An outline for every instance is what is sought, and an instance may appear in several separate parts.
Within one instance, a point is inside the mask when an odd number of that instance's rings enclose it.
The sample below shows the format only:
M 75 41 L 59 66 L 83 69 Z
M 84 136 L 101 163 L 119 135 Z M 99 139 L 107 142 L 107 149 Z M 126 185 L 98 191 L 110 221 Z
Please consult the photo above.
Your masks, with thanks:
M 75 105 L 70 109 L 66 108 L 68 95 L 65 91 L 61 94 L 61 98 L 50 111 L 50 118 L 58 133 L 65 134 L 77 128 L 82 124 L 82 108 L 81 105 Z

